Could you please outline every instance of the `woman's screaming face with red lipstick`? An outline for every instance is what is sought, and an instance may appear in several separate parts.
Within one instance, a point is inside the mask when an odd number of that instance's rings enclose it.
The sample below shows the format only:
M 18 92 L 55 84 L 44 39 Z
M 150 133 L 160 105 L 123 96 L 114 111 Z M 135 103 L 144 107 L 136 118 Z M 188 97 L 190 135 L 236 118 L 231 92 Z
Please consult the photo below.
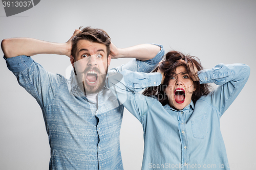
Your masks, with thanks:
M 174 109 L 182 110 L 191 102 L 192 93 L 195 90 L 194 82 L 189 77 L 185 67 L 178 66 L 164 91 L 169 105 Z

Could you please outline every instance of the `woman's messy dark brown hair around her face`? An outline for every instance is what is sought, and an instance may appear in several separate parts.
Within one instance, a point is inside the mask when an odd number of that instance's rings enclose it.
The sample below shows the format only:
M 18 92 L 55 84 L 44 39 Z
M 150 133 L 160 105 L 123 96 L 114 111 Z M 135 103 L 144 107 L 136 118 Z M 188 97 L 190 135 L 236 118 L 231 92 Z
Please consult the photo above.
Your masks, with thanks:
M 184 60 L 185 63 L 179 62 L 179 60 Z M 184 55 L 177 51 L 170 51 L 165 55 L 163 62 L 152 71 L 157 72 L 159 68 L 164 72 L 165 78 L 163 84 L 156 87 L 147 87 L 142 94 L 146 96 L 153 96 L 154 98 L 157 98 L 163 106 L 166 105 L 168 103 L 168 98 L 164 90 L 168 86 L 170 78 L 175 75 L 175 71 L 178 66 L 184 66 L 190 78 L 196 76 L 194 71 L 191 72 L 191 70 L 194 70 L 194 67 L 197 67 L 198 71 L 203 69 L 199 58 Z M 197 100 L 202 95 L 210 93 L 211 86 L 208 84 L 200 84 L 199 81 L 194 81 L 194 86 L 196 87 L 196 90 L 192 94 L 192 101 L 196 104 Z

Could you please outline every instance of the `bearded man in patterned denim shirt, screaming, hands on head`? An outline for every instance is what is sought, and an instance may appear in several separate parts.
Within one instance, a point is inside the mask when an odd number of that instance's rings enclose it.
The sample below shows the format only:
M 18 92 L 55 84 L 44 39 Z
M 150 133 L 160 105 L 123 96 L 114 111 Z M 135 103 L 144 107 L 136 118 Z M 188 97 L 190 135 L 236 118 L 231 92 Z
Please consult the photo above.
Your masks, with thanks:
M 161 45 L 117 48 L 101 29 L 76 30 L 66 43 L 31 38 L 2 41 L 8 68 L 38 102 L 51 147 L 49 169 L 123 169 L 119 133 L 123 106 L 106 88 L 111 59 L 135 57 L 110 70 L 150 72 L 161 60 Z M 47 72 L 32 60 L 36 54 L 70 57 L 70 80 Z

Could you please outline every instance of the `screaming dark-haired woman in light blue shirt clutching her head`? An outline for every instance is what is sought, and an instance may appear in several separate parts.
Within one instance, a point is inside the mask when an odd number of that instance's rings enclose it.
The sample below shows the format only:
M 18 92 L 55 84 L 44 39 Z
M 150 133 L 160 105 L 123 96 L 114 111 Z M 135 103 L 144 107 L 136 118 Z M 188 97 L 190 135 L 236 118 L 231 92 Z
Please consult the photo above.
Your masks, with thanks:
M 142 169 L 229 169 L 220 117 L 244 87 L 250 68 L 202 69 L 194 57 L 176 51 L 165 58 L 150 74 L 123 71 L 108 79 L 143 126 Z M 207 83 L 219 87 L 210 92 Z M 137 93 L 145 87 L 144 95 Z

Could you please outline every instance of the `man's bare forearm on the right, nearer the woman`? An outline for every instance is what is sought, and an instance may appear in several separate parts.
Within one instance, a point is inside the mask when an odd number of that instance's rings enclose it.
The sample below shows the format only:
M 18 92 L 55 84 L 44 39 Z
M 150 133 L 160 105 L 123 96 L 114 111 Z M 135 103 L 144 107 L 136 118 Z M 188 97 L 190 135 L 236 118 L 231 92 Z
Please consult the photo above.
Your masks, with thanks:
M 115 58 L 136 58 L 146 61 L 154 58 L 161 48 L 154 44 L 140 44 L 127 48 L 117 48 L 118 54 Z

